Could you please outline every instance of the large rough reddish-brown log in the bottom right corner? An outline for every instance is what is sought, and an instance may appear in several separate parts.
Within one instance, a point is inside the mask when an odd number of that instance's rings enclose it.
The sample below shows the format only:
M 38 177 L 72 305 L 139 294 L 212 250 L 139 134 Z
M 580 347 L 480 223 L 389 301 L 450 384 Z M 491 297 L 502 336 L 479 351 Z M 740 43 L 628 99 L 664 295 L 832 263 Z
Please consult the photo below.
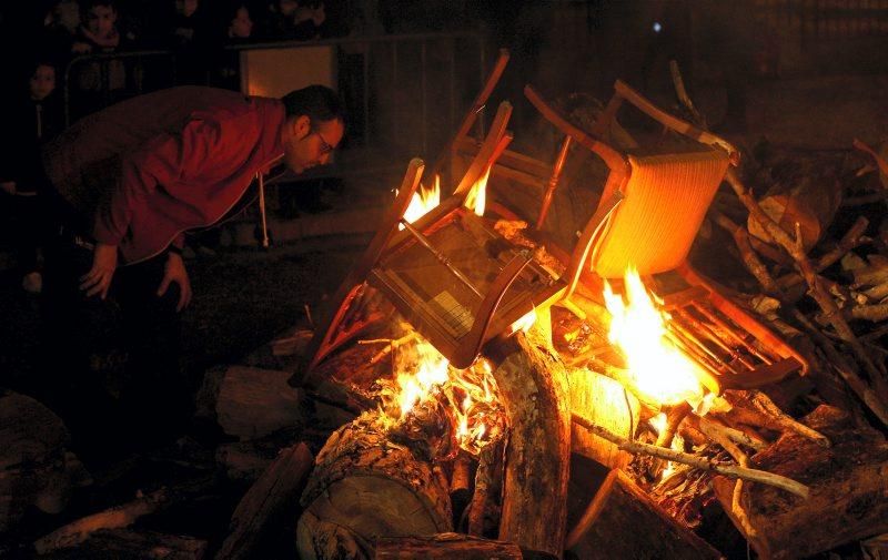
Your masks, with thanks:
M 803 420 L 826 435 L 829 448 L 786 432 L 751 458 L 751 466 L 808 485 L 803 500 L 747 483 L 739 503 L 763 558 L 800 558 L 888 531 L 888 444 L 871 428 L 856 428 L 845 413 L 821 405 Z M 716 477 L 716 497 L 729 515 L 734 481 Z M 731 515 L 731 520 L 744 532 Z M 747 536 L 748 537 L 748 536 Z

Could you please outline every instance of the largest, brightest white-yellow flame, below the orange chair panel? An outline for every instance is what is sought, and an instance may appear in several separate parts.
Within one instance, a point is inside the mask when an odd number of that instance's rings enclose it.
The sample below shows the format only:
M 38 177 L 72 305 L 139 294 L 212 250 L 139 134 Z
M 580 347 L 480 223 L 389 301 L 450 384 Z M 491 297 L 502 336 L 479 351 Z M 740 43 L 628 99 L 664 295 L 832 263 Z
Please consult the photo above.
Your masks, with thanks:
M 625 281 L 628 305 L 607 282 L 604 299 L 612 316 L 608 338 L 626 357 L 636 389 L 667 405 L 698 401 L 703 398 L 695 374 L 698 366 L 666 338 L 668 314 L 657 309 L 634 267 L 627 268 Z

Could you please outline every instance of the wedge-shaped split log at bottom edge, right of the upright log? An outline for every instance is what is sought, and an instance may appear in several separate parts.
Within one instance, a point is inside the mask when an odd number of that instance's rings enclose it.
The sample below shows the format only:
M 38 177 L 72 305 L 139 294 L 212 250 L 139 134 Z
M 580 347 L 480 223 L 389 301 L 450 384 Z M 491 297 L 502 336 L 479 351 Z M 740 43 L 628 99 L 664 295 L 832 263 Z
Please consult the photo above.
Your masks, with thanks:
M 605 479 L 566 547 L 577 558 L 717 559 L 722 554 L 669 517 L 623 471 Z

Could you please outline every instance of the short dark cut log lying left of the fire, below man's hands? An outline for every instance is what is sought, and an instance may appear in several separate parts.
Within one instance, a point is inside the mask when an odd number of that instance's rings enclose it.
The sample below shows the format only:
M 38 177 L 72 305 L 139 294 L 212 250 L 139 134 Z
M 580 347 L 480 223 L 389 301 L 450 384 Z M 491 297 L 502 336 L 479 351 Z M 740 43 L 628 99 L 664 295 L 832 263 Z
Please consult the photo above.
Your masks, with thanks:
M 246 366 L 225 370 L 215 414 L 229 436 L 255 439 L 304 421 L 302 391 L 287 385 L 290 373 Z

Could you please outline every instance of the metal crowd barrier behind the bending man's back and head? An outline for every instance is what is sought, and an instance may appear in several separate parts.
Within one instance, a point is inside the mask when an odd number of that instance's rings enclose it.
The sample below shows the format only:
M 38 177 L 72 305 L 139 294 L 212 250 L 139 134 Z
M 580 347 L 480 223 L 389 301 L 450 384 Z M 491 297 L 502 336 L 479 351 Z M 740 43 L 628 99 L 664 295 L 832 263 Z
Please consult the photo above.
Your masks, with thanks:
M 215 65 L 186 75 L 188 81 L 182 72 L 188 61 L 183 64 L 183 54 L 174 51 L 91 54 L 64 69 L 65 120 L 70 124 L 110 103 L 181 83 L 278 96 L 287 91 L 280 90 L 287 75 L 299 77 L 291 67 L 307 64 L 307 73 L 317 75 L 319 52 L 331 63 L 320 82 L 340 91 L 349 118 L 336 163 L 312 176 L 403 167 L 412 156 L 434 160 L 480 90 L 487 65 L 484 37 L 474 32 L 229 45 L 209 53 Z M 231 64 L 243 83 L 218 72 Z

